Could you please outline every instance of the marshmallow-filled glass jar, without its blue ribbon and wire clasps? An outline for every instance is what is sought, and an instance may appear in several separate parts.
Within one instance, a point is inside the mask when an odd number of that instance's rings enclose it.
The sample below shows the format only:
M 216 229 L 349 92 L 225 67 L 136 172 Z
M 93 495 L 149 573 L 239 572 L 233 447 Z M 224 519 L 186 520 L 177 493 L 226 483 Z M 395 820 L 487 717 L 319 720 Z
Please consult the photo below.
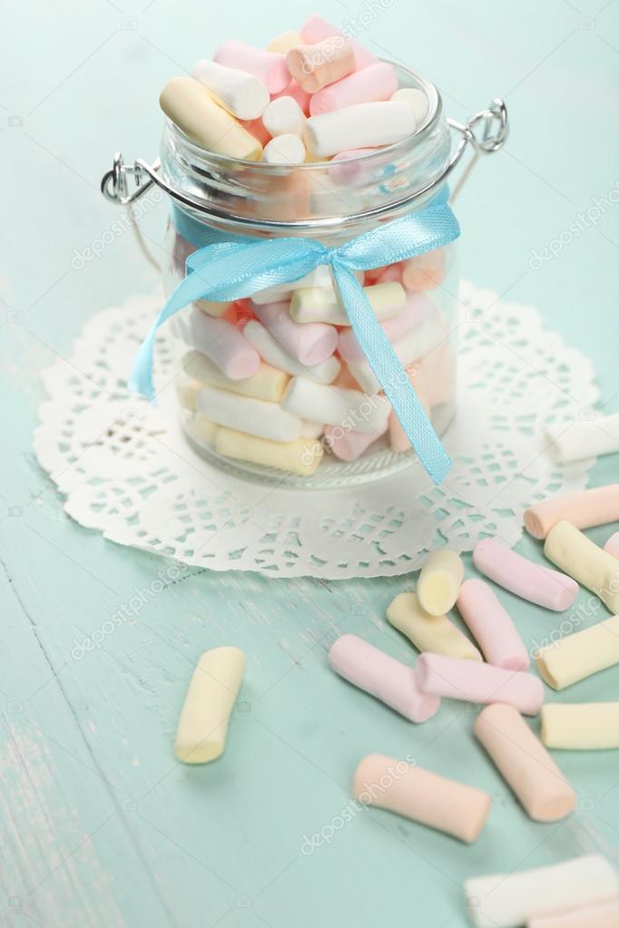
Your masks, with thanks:
M 403 214 L 398 203 L 440 177 L 450 151 L 433 84 L 378 60 L 316 16 L 264 50 L 221 45 L 192 77 L 166 84 L 161 109 L 168 117 L 162 172 L 205 204 L 203 212 L 174 204 L 168 292 L 204 243 L 195 234 L 201 226 L 342 244 Z M 454 245 L 358 279 L 403 377 L 442 434 L 456 394 Z M 172 329 L 185 432 L 227 470 L 337 486 L 390 475 L 414 459 L 329 267 L 251 299 L 196 301 Z

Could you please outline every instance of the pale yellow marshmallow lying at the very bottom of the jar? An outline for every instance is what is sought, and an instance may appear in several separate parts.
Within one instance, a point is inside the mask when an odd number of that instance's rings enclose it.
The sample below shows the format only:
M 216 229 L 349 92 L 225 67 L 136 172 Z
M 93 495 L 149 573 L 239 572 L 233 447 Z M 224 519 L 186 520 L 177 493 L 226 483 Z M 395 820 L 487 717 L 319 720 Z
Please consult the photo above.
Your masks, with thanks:
M 246 432 L 224 428 L 217 430 L 215 451 L 225 458 L 286 470 L 302 477 L 311 477 L 316 473 L 323 456 L 320 442 L 308 438 L 298 438 L 293 442 L 274 442 Z

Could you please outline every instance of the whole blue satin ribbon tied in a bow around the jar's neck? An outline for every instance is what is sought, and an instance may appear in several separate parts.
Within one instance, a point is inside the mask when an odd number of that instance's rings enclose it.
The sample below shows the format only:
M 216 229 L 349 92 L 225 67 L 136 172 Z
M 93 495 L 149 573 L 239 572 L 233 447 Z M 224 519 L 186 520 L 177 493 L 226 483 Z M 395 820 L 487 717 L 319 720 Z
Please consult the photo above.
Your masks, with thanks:
M 424 209 L 376 226 L 335 248 L 312 238 L 224 235 L 176 210 L 173 221 L 179 232 L 202 247 L 187 258 L 187 277 L 176 287 L 142 343 L 131 372 L 130 389 L 150 400 L 154 398 L 152 354 L 157 329 L 187 303 L 242 300 L 258 290 L 299 280 L 319 264 L 329 264 L 369 366 L 421 464 L 434 483 L 441 483 L 451 461 L 354 272 L 413 258 L 458 238 L 458 220 L 447 204 L 447 196 L 444 188 Z

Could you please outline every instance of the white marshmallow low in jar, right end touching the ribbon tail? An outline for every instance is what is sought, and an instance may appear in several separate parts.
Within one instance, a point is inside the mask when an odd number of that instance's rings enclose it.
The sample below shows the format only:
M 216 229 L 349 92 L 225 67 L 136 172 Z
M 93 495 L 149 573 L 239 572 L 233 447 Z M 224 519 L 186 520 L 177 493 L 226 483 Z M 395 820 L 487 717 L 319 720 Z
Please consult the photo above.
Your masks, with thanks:
M 303 377 L 290 380 L 281 405 L 302 419 L 374 435 L 384 432 L 391 411 L 381 396 L 370 397 L 358 390 L 342 390 Z

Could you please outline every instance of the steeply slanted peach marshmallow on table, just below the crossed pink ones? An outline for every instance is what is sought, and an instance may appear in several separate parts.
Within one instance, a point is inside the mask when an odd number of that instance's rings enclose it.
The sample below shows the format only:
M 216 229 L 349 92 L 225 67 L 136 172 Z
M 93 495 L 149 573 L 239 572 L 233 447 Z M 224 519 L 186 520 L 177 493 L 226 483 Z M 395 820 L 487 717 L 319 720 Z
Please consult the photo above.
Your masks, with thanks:
M 487 706 L 475 719 L 473 733 L 529 818 L 560 821 L 573 811 L 576 793 L 514 706 Z

